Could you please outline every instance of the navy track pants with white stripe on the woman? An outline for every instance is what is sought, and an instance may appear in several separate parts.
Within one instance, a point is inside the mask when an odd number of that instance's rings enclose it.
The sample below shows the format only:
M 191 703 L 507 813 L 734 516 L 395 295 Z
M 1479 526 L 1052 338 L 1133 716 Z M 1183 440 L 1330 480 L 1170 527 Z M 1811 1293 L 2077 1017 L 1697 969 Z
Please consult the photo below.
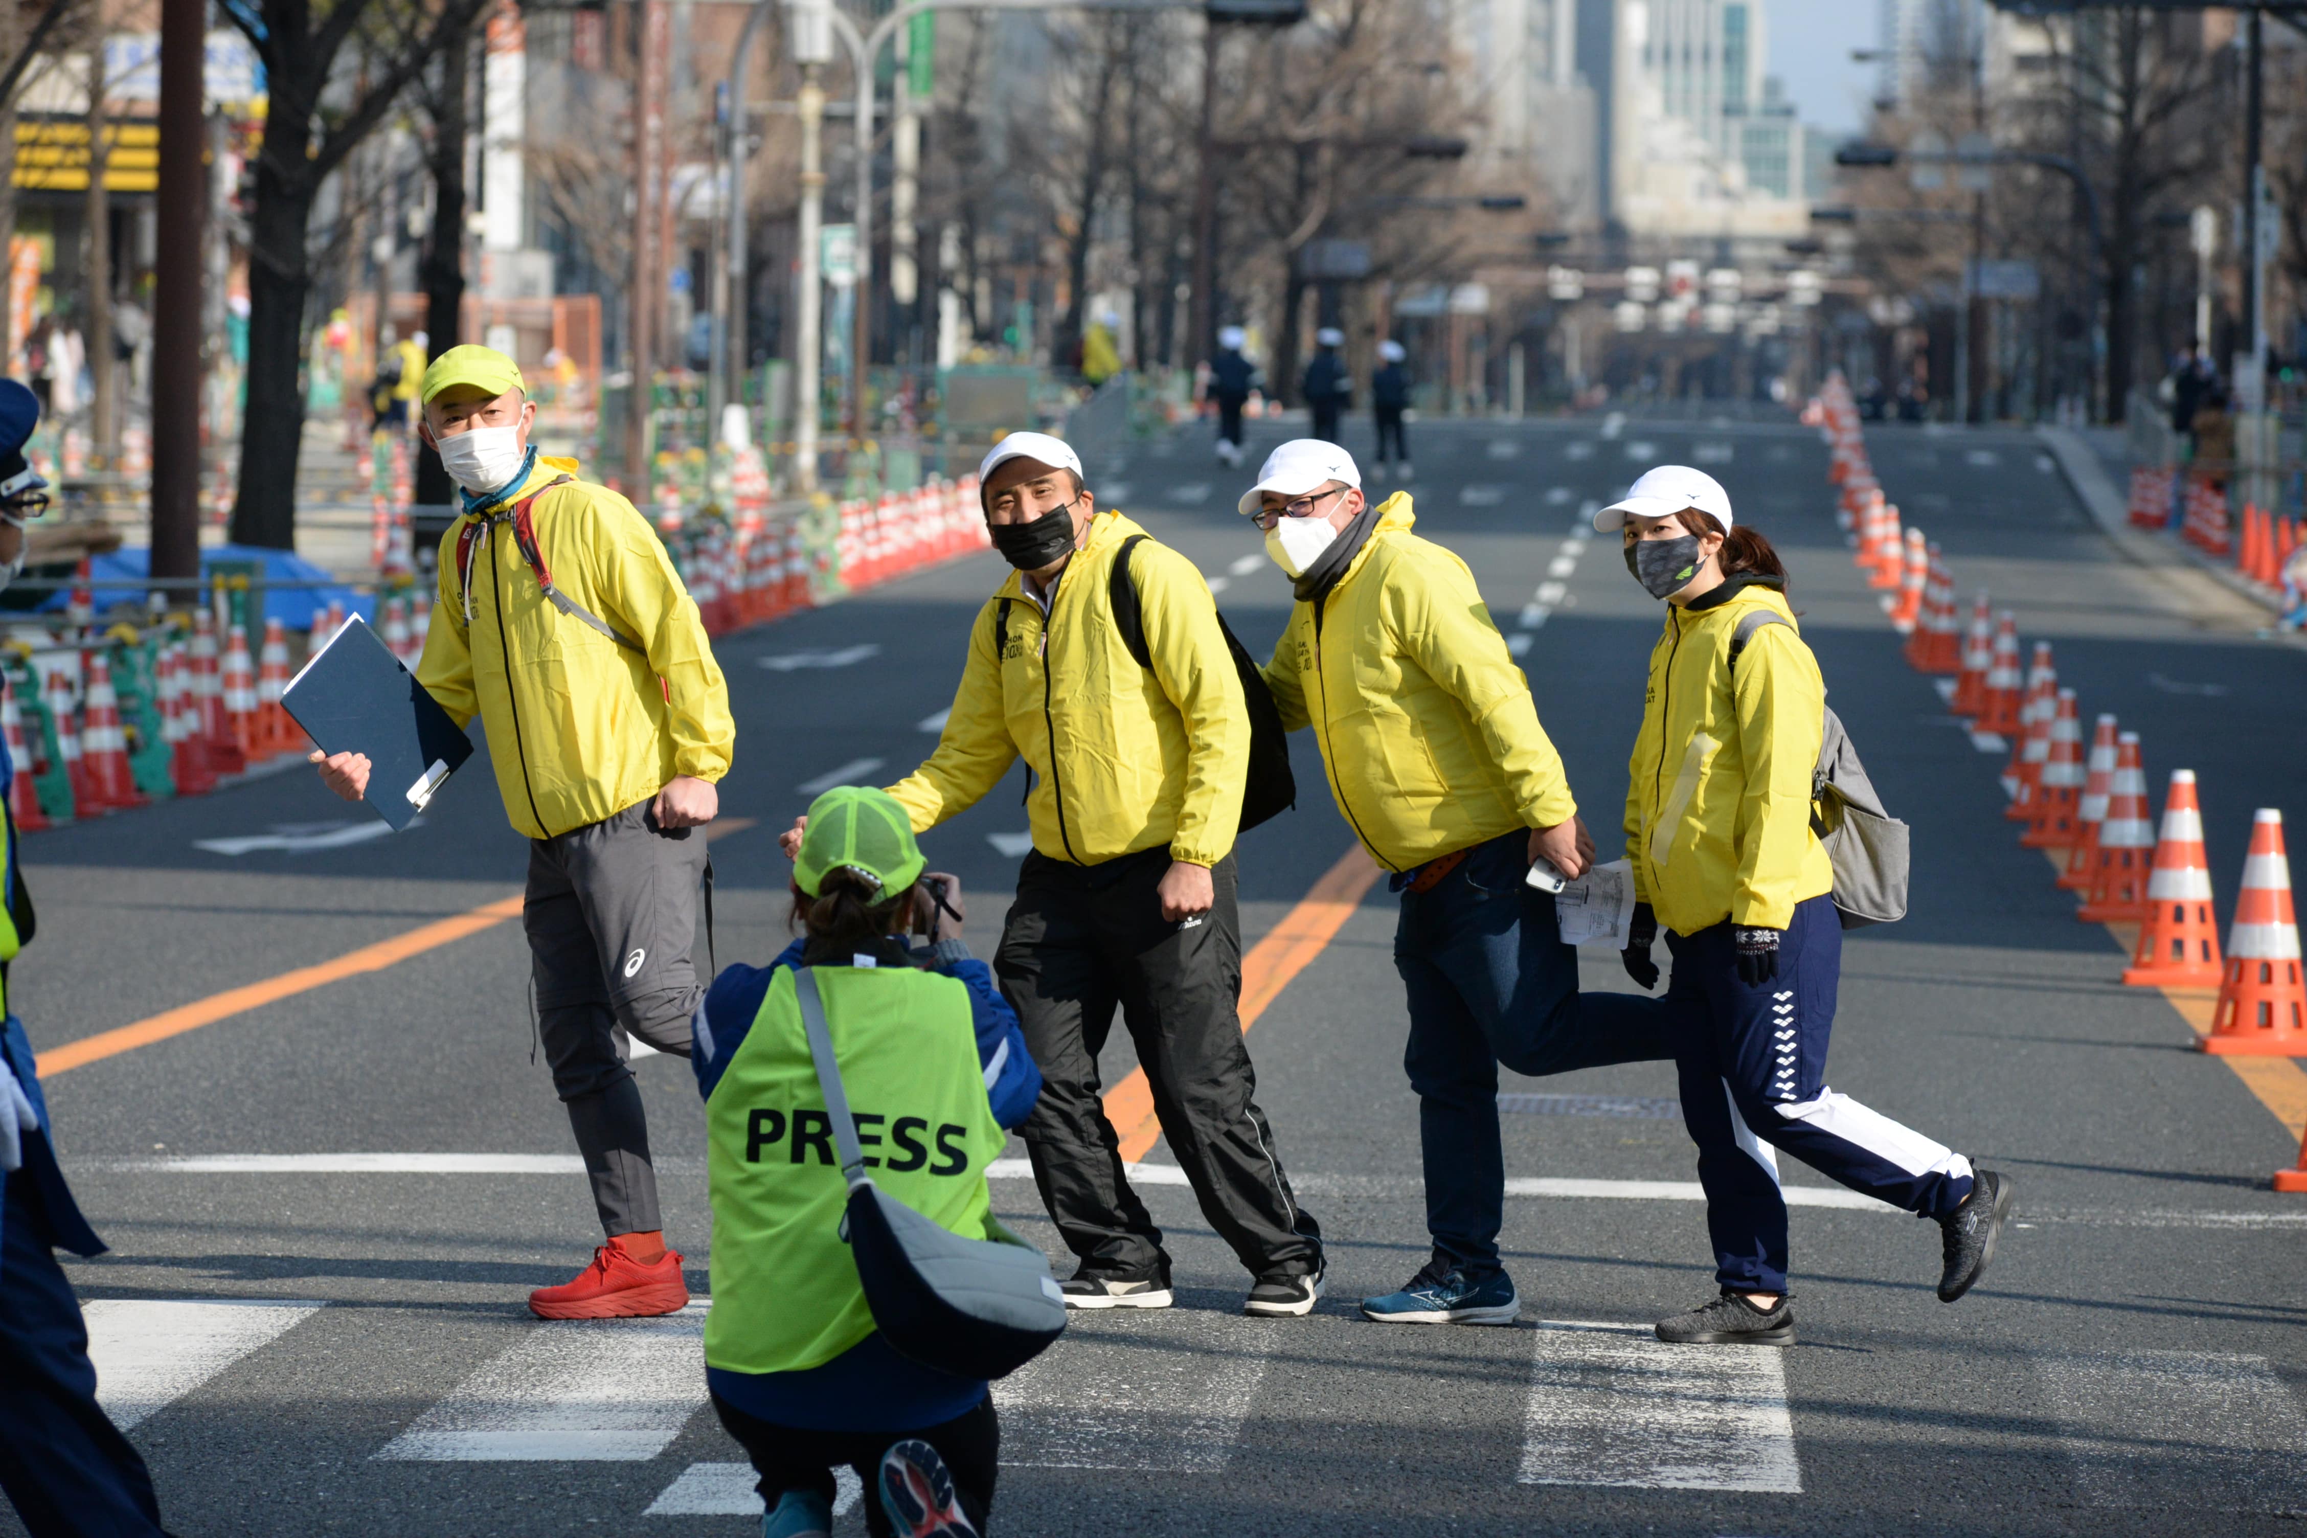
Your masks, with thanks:
M 1786 1291 L 1786 1199 L 1774 1148 L 1922 1217 L 1970 1194 L 1970 1160 L 1827 1088 L 1827 1038 L 1843 929 L 1832 897 L 1795 904 L 1779 975 L 1746 987 L 1721 922 L 1666 936 L 1666 1005 L 1682 1079 L 1682 1123 L 1698 1144 L 1714 1275 L 1739 1291 Z

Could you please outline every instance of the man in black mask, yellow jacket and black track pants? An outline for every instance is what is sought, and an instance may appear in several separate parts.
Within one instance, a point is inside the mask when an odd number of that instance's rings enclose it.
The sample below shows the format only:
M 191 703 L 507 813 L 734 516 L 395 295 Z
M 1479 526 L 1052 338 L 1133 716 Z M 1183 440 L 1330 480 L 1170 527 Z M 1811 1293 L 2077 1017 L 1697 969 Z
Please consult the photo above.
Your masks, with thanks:
M 1170 1151 L 1255 1277 L 1243 1310 L 1308 1314 L 1322 1229 L 1273 1153 L 1237 1015 L 1250 722 L 1218 606 L 1190 560 L 1096 512 L 1066 443 L 1010 433 L 978 475 L 994 549 L 1017 572 L 978 611 L 937 752 L 891 796 L 920 832 L 976 805 L 1017 759 L 1034 772 L 1034 851 L 994 975 L 1040 1065 L 1020 1134 L 1080 1259 L 1066 1305 L 1172 1303 L 1160 1229 L 1098 1100 L 1119 1003 Z M 1137 595 L 1147 666 L 1114 616 L 1121 581 Z M 796 828 L 787 853 L 798 842 Z

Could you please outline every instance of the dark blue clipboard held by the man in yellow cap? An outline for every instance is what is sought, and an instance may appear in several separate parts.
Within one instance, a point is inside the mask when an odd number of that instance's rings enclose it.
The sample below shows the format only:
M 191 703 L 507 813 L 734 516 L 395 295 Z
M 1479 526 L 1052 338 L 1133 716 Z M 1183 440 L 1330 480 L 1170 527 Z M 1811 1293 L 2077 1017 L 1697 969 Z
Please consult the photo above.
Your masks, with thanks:
M 281 706 L 323 754 L 367 754 L 362 798 L 394 832 L 473 756 L 473 742 L 358 613 L 288 680 Z

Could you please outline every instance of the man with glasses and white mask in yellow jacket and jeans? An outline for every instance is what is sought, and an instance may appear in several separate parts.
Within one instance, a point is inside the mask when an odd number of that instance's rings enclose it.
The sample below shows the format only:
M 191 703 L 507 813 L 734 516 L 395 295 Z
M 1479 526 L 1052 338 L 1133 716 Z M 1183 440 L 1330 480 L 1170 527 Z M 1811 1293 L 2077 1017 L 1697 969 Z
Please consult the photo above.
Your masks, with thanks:
M 1539 862 L 1583 874 L 1594 839 L 1474 574 L 1410 533 L 1410 493 L 1373 507 L 1352 454 L 1297 438 L 1273 450 L 1241 512 L 1297 595 L 1267 666 L 1283 726 L 1313 726 L 1338 809 L 1403 899 L 1393 966 L 1410 994 L 1403 1065 L 1419 1093 L 1433 1257 L 1361 1312 L 1513 1324 L 1523 1305 L 1497 1257 L 1497 1065 L 1555 1075 L 1670 1058 L 1666 1017 L 1631 994 L 1578 996 L 1555 899 L 1525 876 Z

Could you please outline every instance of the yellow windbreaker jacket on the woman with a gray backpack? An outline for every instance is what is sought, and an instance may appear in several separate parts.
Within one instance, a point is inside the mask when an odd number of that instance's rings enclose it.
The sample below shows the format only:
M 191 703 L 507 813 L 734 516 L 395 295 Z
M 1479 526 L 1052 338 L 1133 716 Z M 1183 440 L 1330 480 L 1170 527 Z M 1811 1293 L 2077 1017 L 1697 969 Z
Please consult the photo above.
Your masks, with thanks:
M 1733 666 L 1730 636 L 1756 609 L 1788 625 L 1758 627 Z M 1811 832 L 1827 685 L 1793 618 L 1763 586 L 1696 613 L 1666 606 L 1626 763 L 1626 858 L 1636 892 L 1675 934 L 1726 918 L 1786 929 L 1797 902 L 1834 890 Z

